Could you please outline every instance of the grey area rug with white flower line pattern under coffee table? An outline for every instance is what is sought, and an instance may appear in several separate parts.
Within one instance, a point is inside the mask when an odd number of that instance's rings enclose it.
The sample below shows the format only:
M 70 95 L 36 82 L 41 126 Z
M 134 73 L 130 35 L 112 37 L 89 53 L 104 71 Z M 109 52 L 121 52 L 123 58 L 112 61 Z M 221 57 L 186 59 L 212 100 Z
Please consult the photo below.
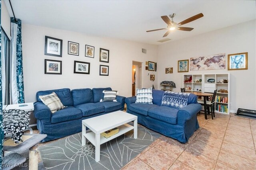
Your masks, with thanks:
M 138 124 L 138 138 L 129 131 L 100 145 L 100 161 L 95 162 L 95 147 L 88 140 L 82 147 L 81 134 L 77 133 L 42 145 L 40 154 L 46 169 L 50 170 L 119 170 L 160 137 Z

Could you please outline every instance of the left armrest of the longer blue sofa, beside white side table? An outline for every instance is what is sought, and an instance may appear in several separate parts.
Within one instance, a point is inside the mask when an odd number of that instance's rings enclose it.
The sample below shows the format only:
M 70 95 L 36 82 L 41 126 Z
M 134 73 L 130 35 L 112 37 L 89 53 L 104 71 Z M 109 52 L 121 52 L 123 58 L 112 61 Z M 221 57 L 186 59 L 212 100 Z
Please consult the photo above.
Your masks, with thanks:
M 49 107 L 47 107 L 43 102 L 35 102 L 34 117 L 39 120 L 51 122 L 52 113 Z

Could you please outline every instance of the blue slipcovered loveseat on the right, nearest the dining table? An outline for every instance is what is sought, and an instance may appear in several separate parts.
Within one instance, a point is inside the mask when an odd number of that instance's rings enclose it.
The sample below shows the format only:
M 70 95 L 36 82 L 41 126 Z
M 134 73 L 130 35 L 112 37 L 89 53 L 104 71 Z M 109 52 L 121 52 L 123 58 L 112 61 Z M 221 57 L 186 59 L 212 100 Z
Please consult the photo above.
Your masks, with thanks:
M 135 103 L 136 96 L 126 98 L 127 112 L 138 116 L 138 123 L 145 127 L 186 143 L 199 128 L 196 115 L 201 105 L 196 95 L 190 94 L 187 106 L 181 109 L 161 106 L 163 94 L 163 90 L 152 90 L 153 104 Z

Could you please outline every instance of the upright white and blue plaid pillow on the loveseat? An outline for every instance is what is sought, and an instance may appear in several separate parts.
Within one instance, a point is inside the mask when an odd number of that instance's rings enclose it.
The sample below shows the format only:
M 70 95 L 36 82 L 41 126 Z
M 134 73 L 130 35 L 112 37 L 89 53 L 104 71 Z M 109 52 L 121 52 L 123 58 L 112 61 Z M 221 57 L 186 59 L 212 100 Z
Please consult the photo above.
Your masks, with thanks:
M 136 89 L 136 102 L 144 104 L 153 104 L 152 88 Z

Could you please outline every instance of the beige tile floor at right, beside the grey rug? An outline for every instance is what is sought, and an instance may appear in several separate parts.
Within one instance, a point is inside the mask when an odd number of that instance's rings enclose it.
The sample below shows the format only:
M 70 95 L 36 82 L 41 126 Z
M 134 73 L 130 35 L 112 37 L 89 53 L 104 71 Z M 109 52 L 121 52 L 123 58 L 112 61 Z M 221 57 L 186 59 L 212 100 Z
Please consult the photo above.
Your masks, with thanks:
M 188 143 L 161 136 L 122 170 L 256 170 L 256 119 L 198 115 Z

